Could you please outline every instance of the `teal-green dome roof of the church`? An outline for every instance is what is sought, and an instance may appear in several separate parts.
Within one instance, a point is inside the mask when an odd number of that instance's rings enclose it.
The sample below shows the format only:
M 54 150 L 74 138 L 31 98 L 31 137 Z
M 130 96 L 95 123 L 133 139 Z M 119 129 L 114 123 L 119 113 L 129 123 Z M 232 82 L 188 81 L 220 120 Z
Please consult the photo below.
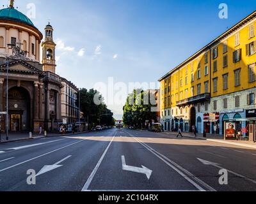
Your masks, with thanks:
M 12 20 L 14 22 L 20 22 L 22 24 L 27 24 L 35 27 L 33 22 L 26 17 L 23 13 L 21 13 L 18 10 L 15 10 L 15 8 L 10 7 L 10 8 L 3 8 L 0 10 L 0 19 L 1 20 Z

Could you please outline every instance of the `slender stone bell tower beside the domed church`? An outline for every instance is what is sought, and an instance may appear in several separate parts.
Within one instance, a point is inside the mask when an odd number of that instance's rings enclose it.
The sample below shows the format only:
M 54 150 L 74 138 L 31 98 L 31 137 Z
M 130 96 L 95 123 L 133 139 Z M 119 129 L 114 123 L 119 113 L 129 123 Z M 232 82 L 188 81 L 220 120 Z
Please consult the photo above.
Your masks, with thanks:
M 55 61 L 55 48 L 56 44 L 53 41 L 52 33 L 53 28 L 50 23 L 45 27 L 45 39 L 42 42 L 42 49 L 43 49 L 43 71 L 51 71 L 55 73 L 56 69 L 56 61 Z

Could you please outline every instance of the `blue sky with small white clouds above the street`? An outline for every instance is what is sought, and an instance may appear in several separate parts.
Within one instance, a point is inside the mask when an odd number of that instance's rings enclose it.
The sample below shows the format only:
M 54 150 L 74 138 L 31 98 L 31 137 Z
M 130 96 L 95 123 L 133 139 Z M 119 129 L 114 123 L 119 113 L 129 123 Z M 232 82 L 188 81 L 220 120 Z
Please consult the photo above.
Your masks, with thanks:
M 2 0 L 8 4 L 7 0 Z M 165 73 L 252 11 L 256 1 L 15 0 L 22 13 L 35 3 L 31 19 L 44 33 L 51 19 L 58 44 L 57 73 L 77 87 L 97 82 L 156 82 Z M 228 19 L 218 17 L 228 5 Z M 124 92 L 126 95 L 127 92 Z M 108 101 L 108 95 L 104 92 Z M 116 119 L 122 105 L 109 105 Z

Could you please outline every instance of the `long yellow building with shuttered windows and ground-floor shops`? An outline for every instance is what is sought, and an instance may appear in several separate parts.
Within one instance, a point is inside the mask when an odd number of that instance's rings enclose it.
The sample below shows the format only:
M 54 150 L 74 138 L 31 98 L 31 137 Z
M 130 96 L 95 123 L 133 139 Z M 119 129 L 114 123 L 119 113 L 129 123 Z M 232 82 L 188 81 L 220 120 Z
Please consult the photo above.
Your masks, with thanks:
M 165 131 L 196 126 L 222 134 L 224 120 L 246 119 L 256 102 L 255 26 L 256 11 L 159 79 Z M 209 113 L 216 113 L 215 127 Z

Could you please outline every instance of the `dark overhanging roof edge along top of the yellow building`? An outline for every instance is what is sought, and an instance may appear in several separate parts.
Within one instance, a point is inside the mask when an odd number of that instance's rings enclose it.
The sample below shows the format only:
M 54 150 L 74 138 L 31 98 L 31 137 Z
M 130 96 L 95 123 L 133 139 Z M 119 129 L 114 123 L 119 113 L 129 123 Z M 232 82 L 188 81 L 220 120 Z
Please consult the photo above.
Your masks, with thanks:
M 250 15 L 248 15 L 247 17 L 243 18 L 243 20 L 240 20 L 237 24 L 233 25 L 230 29 L 228 29 L 227 31 L 225 31 L 223 34 L 221 34 L 220 36 L 218 36 L 217 38 L 215 38 L 214 40 L 211 41 L 211 43 L 207 44 L 205 47 L 201 48 L 200 50 L 198 50 L 198 52 L 196 52 L 195 54 L 191 55 L 191 57 L 189 57 L 188 59 L 186 59 L 186 61 L 182 62 L 181 64 L 179 64 L 178 66 L 176 66 L 175 68 L 173 68 L 171 71 L 169 71 L 166 75 L 164 75 L 163 77 L 159 78 L 159 82 L 161 82 L 164 78 L 169 77 L 170 75 L 172 75 L 173 72 L 177 71 L 177 69 L 179 69 L 180 67 L 184 66 L 185 64 L 187 64 L 189 61 L 191 61 L 191 59 L 195 59 L 197 55 L 202 54 L 202 52 L 205 52 L 205 50 L 209 49 L 212 47 L 212 45 L 218 43 L 220 40 L 222 40 L 223 38 L 225 38 L 226 36 L 228 36 L 229 34 L 233 33 L 234 31 L 236 31 L 237 29 L 239 29 L 239 27 L 243 26 L 244 24 L 246 24 L 246 22 L 252 20 L 252 18 L 256 17 L 256 10 L 253 11 L 252 13 L 250 13 Z

